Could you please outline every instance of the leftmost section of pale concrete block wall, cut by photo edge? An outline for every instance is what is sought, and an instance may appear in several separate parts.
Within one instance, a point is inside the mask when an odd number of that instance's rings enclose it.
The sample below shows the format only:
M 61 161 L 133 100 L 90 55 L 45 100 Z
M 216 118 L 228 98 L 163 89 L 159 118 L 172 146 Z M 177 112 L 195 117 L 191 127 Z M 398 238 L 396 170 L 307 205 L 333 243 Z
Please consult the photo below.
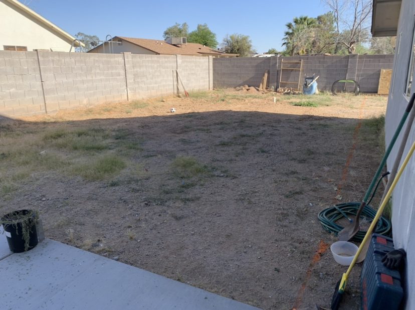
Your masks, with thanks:
M 0 51 L 0 113 L 44 112 L 37 53 Z

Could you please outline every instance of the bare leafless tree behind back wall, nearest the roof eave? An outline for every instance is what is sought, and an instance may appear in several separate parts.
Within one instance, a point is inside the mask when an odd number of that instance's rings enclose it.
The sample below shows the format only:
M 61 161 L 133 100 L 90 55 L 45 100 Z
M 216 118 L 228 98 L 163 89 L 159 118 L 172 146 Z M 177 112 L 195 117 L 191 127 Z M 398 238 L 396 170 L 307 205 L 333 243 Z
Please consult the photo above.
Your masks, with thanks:
M 335 24 L 335 53 L 343 46 L 349 54 L 356 45 L 367 42 L 372 0 L 324 0 L 330 8 Z

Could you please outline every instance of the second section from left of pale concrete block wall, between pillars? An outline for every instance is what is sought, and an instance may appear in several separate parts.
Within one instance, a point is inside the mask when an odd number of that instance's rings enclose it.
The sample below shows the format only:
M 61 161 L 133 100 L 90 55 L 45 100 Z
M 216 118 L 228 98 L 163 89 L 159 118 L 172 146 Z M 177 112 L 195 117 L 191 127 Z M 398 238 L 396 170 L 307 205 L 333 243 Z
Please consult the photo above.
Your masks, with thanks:
M 126 100 L 121 55 L 39 52 L 47 112 Z

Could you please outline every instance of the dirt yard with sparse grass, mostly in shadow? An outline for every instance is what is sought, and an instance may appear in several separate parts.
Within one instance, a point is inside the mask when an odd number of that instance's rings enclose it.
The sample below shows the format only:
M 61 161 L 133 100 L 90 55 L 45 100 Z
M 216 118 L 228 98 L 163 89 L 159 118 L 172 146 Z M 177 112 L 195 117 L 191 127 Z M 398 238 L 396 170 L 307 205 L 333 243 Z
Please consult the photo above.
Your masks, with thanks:
M 382 147 L 365 119 L 386 100 L 215 90 L 3 119 L 0 213 L 39 210 L 47 238 L 264 309 L 329 307 L 347 267 L 317 214 L 364 196 Z

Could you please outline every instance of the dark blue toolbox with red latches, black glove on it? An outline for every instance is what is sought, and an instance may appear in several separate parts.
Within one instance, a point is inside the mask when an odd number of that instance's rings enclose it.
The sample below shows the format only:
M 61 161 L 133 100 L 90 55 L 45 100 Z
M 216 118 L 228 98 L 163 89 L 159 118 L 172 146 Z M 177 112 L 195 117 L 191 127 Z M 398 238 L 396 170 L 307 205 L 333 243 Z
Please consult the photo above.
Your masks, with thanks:
M 381 260 L 394 250 L 391 238 L 373 234 L 364 260 L 361 281 L 362 310 L 397 310 L 403 297 L 400 274 Z

